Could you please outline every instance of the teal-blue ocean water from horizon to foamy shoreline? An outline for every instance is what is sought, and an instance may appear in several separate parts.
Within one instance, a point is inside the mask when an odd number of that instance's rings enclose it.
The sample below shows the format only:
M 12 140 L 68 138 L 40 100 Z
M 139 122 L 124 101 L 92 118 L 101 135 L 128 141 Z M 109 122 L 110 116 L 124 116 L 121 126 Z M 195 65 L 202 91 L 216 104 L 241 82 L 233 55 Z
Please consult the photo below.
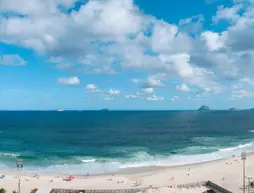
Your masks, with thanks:
M 254 151 L 253 111 L 1 111 L 0 169 L 92 174 Z

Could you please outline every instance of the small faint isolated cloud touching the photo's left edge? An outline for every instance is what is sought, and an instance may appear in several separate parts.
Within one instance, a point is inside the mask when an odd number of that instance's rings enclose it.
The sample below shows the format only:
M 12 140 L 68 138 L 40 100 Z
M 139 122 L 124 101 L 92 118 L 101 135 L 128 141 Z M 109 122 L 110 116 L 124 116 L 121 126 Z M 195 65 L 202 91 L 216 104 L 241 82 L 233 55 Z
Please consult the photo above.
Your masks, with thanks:
M 0 55 L 0 65 L 5 66 L 25 66 L 26 61 L 19 55 Z

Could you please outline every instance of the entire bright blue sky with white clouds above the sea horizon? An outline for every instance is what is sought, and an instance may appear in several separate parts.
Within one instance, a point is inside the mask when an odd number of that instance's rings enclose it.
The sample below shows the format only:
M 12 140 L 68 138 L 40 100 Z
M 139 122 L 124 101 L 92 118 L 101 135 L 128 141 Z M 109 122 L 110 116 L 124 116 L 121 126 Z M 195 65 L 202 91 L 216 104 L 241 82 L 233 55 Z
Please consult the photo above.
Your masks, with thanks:
M 254 107 L 254 0 L 0 0 L 0 110 Z

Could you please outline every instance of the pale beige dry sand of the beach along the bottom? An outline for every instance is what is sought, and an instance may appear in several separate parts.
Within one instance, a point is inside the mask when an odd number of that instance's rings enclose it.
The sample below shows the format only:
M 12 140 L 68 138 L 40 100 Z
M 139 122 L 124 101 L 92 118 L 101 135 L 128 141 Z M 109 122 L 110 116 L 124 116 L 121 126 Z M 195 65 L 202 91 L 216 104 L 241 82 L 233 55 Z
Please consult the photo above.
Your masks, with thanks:
M 75 178 L 72 181 L 64 181 L 63 176 L 40 174 L 39 179 L 22 175 L 21 192 L 29 193 L 32 189 L 49 190 L 60 189 L 124 189 L 135 188 L 136 181 L 140 181 L 138 188 L 149 186 L 162 187 L 157 192 L 178 192 L 169 190 L 167 186 L 194 183 L 211 180 L 218 185 L 234 192 L 242 192 L 243 164 L 240 157 L 232 157 L 207 163 L 176 167 L 147 167 L 130 168 L 117 174 L 89 176 L 87 179 Z M 6 179 L 0 179 L 0 187 L 8 192 L 17 190 L 18 180 L 16 174 L 2 171 Z M 248 155 L 246 161 L 246 176 L 254 176 L 254 155 Z M 66 176 L 67 177 L 67 176 Z M 51 180 L 53 180 L 51 182 Z M 246 180 L 247 184 L 247 180 Z M 181 191 L 179 191 L 181 192 Z M 195 191 L 194 191 L 195 192 Z M 201 189 L 197 192 L 202 192 Z

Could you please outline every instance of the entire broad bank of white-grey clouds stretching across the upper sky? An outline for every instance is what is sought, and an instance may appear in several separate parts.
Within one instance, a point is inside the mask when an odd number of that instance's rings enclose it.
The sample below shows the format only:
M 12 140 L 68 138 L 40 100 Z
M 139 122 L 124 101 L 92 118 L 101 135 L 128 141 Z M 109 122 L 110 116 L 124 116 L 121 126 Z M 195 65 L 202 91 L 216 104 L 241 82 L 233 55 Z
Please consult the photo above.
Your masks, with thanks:
M 133 0 L 93 0 L 76 7 L 75 0 L 28 1 L 0 0 L 0 41 L 33 50 L 60 70 L 137 72 L 148 76 L 132 80 L 141 89 L 184 82 L 202 96 L 222 92 L 226 81 L 254 82 L 250 1 L 218 8 L 214 24 L 228 21 L 222 31 L 204 30 L 202 15 L 175 23 L 158 20 Z

